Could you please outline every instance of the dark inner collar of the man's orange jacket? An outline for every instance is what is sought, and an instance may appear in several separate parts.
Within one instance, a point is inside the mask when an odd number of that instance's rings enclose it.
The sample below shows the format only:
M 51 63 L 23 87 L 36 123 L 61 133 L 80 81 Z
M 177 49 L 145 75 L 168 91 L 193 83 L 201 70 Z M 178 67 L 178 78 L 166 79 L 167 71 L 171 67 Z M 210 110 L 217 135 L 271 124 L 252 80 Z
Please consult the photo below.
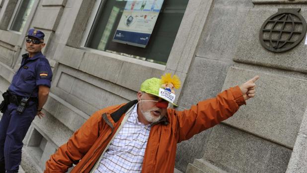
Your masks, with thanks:
M 122 106 L 121 108 L 119 108 L 114 113 L 112 113 L 111 117 L 112 117 L 113 121 L 116 123 L 122 115 L 124 115 L 131 107 L 133 107 L 137 103 L 138 103 L 138 100 L 133 100 L 133 101 L 127 103 L 126 105 Z M 169 124 L 166 116 L 163 116 L 159 121 L 153 123 L 152 125 L 157 124 L 157 123 L 161 123 L 163 125 Z

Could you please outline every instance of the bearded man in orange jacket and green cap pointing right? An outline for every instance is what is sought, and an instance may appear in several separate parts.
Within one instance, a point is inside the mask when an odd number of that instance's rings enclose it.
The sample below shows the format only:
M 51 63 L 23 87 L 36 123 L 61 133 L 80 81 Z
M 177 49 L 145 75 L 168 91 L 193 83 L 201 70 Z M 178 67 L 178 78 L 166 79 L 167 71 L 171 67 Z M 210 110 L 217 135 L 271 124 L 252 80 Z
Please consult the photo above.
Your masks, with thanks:
M 137 100 L 94 113 L 46 163 L 45 173 L 172 173 L 177 143 L 229 118 L 255 96 L 255 81 L 199 102 L 190 110 L 167 109 L 177 77 L 145 80 Z

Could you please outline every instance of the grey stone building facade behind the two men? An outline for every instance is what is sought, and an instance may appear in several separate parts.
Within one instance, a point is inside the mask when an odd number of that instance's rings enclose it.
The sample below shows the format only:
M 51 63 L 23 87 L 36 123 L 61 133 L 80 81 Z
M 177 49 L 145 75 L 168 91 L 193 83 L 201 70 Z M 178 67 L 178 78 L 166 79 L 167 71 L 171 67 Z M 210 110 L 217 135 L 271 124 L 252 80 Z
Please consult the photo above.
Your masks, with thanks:
M 278 8 L 301 8 L 307 18 L 307 0 L 164 0 L 168 6 L 160 18 L 164 13 L 182 17 L 177 17 L 173 42 L 162 60 L 163 48 L 149 55 L 156 60 L 142 58 L 154 46 L 142 48 L 144 53 L 123 47 L 130 57 L 86 46 L 96 33 L 96 14 L 107 10 L 100 7 L 110 1 L 0 0 L 0 92 L 20 66 L 29 28 L 46 34 L 43 53 L 54 73 L 46 116 L 34 119 L 24 139 L 25 172 L 41 173 L 50 155 L 92 113 L 134 100 L 142 81 L 165 72 L 177 74 L 183 84 L 177 92 L 178 110 L 260 75 L 256 98 L 222 124 L 178 144 L 177 172 L 307 172 L 305 37 L 284 53 L 269 52 L 259 42 L 260 27 Z M 106 28 L 111 18 L 104 21 Z M 159 22 L 152 40 L 168 37 L 169 31 L 154 36 Z

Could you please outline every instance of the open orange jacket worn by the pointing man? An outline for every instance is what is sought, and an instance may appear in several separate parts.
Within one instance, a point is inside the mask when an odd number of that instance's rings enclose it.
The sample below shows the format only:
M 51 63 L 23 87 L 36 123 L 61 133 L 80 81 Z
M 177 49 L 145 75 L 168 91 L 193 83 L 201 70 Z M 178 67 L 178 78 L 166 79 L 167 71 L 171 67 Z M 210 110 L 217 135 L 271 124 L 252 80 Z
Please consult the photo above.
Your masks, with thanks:
M 89 173 L 123 119 L 137 100 L 94 113 L 46 163 L 44 173 Z M 191 138 L 229 118 L 245 104 L 238 86 L 216 98 L 199 102 L 190 110 L 167 109 L 167 115 L 152 126 L 142 173 L 173 173 L 177 143 Z

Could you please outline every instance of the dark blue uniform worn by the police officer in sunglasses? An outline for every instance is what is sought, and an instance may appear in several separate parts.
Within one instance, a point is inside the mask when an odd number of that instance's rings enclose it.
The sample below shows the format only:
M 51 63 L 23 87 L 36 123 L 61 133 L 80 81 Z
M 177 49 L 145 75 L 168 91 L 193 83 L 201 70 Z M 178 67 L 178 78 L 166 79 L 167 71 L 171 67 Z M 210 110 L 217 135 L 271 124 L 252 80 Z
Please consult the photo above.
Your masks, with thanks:
M 29 35 L 31 32 L 33 33 L 33 30 L 29 31 Z M 39 32 L 36 30 L 36 33 Z M 51 80 L 50 64 L 41 52 L 31 58 L 28 57 L 28 54 L 22 55 L 21 66 L 14 75 L 8 92 L 19 98 L 30 97 L 31 99 L 22 114 L 16 112 L 18 105 L 10 102 L 2 115 L 0 121 L 0 162 L 5 162 L 6 173 L 18 172 L 21 162 L 22 140 L 37 113 L 38 86 L 45 85 L 50 88 Z

